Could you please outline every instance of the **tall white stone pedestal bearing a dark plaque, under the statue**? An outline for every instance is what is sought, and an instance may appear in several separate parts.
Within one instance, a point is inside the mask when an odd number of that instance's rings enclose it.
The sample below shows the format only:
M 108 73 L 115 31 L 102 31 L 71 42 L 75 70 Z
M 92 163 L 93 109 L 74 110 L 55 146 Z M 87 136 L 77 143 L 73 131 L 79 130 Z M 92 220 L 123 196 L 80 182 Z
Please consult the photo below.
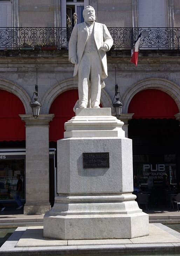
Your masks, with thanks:
M 148 215 L 132 195 L 132 141 L 110 108 L 76 109 L 57 142 L 57 193 L 44 236 L 62 240 L 148 235 Z M 109 167 L 83 168 L 83 153 L 109 153 Z M 104 156 L 105 157 L 105 156 Z M 96 166 L 96 159 L 90 159 Z

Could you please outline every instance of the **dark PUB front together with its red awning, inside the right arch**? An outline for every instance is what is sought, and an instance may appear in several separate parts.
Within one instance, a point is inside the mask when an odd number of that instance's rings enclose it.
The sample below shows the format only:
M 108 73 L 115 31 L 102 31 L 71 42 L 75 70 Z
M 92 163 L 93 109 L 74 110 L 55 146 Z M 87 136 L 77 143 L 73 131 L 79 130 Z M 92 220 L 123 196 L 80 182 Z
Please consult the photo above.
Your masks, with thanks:
M 134 113 L 128 126 L 134 192 L 148 194 L 150 209 L 170 208 L 171 196 L 180 193 L 178 107 L 169 95 L 153 89 L 137 93 L 128 111 Z

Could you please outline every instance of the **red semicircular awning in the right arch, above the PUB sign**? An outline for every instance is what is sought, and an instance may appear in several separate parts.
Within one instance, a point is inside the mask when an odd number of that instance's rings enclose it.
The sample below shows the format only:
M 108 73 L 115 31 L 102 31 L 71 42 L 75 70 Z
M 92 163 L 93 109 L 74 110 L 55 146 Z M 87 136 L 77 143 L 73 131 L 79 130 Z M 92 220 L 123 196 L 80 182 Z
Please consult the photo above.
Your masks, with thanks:
M 132 98 L 128 113 L 134 113 L 133 118 L 175 118 L 179 113 L 175 101 L 167 93 L 156 89 L 142 90 Z

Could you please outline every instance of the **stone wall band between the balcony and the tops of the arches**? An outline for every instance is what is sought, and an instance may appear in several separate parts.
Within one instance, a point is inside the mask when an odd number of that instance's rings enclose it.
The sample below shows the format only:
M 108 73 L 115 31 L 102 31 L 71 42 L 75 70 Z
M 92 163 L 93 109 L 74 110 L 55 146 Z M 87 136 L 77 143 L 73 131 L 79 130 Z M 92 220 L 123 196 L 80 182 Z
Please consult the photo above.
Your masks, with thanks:
M 108 53 L 109 76 L 105 79 L 105 91 L 112 100 L 115 93 L 116 67 L 116 80 L 123 97 L 140 81 L 152 79 L 149 86 L 167 91 L 180 107 L 180 100 L 177 96 L 180 95 L 180 58 L 178 55 L 178 51 L 152 52 L 141 50 L 136 68 L 130 63 L 130 50 L 112 50 Z M 60 50 L 55 53 L 34 50 L 28 53 L 21 53 L 20 51 L 0 53 L 0 88 L 1 79 L 8 80 L 22 87 L 27 95 L 32 97 L 36 83 L 36 67 L 38 68 L 38 86 L 41 99 L 44 99 L 51 89 L 57 88 L 56 90 L 58 90 L 57 85 L 60 86 L 62 82 L 67 84 L 67 89 L 73 87 L 74 67 L 68 61 L 67 50 Z M 172 88 L 167 89 L 166 81 L 169 81 L 168 86 Z M 158 83 L 161 85 L 160 87 Z M 143 89 L 143 84 L 141 87 Z M 54 93 L 53 97 L 56 96 Z M 127 97 L 125 98 L 127 101 Z M 44 104 L 47 104 L 45 102 Z M 126 102 L 124 103 L 126 105 Z M 48 108 L 43 107 L 43 109 L 47 111 Z M 43 114 L 48 114 L 46 111 Z M 127 113 L 127 109 L 124 109 L 124 113 Z

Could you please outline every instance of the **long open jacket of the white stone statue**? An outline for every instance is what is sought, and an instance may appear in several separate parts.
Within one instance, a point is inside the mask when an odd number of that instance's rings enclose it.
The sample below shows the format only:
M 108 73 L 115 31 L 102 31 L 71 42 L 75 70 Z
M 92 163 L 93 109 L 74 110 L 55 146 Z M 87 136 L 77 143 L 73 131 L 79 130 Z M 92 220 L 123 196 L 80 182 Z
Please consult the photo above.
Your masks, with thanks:
M 77 57 L 77 64 L 74 65 L 74 76 L 78 75 L 78 67 L 81 61 L 86 41 L 88 39 L 88 27 L 86 22 L 79 23 L 74 26 L 69 40 L 69 61 L 72 57 Z M 105 24 L 94 23 L 94 39 L 97 46 L 99 56 L 102 61 L 103 74 L 102 79 L 108 76 L 106 52 L 101 50 L 103 43 L 108 45 L 108 50 L 113 45 L 112 37 Z

